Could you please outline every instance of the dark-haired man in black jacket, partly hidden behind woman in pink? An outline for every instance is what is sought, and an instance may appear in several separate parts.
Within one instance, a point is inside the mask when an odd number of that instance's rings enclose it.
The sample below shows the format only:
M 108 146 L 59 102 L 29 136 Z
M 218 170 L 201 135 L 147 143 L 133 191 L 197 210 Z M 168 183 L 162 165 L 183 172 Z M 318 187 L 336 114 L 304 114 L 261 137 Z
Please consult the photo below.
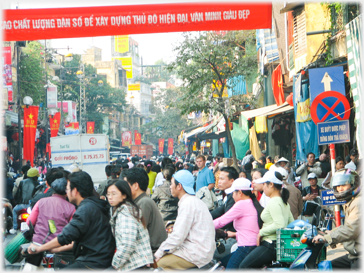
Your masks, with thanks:
M 239 178 L 239 173 L 233 166 L 221 168 L 219 180 L 218 180 L 219 190 L 224 191 L 226 189 L 229 189 L 232 186 L 234 180 L 237 178 Z M 231 207 L 234 204 L 235 204 L 235 201 L 233 199 L 233 194 L 226 195 L 225 204 L 223 204 L 221 207 L 218 207 L 218 208 L 214 209 L 213 211 L 211 211 L 212 219 L 216 219 L 216 218 L 222 216 L 223 214 L 225 214 L 226 211 L 231 209 Z M 226 224 L 225 226 L 222 227 L 222 229 L 225 231 L 236 232 L 236 230 L 234 229 L 234 226 L 233 226 L 233 222 Z M 237 240 L 235 238 L 229 238 L 228 240 L 226 240 L 226 243 L 223 243 L 225 245 L 225 251 L 222 253 L 219 253 L 216 249 L 215 253 L 214 253 L 214 259 L 220 260 L 224 256 L 230 254 L 231 247 L 236 242 L 237 242 Z

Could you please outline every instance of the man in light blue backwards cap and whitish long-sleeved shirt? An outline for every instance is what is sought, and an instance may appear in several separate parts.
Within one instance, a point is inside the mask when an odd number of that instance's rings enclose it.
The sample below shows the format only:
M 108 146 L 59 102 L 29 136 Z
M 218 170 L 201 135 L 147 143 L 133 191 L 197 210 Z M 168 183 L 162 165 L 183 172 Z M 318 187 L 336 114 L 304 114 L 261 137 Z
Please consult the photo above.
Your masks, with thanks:
M 203 267 L 216 248 L 212 216 L 204 202 L 195 197 L 195 179 L 188 170 L 173 174 L 170 191 L 178 197 L 178 215 L 173 231 L 155 252 L 158 267 L 183 270 Z

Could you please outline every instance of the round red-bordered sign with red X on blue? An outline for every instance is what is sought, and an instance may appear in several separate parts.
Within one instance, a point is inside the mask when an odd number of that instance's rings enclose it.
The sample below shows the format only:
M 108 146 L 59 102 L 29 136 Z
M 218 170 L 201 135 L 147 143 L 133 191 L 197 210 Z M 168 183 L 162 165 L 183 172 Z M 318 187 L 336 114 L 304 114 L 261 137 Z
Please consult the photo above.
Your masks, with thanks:
M 331 106 L 323 102 L 324 99 L 330 97 L 336 99 L 335 103 Z M 319 116 L 317 115 L 317 106 L 319 105 L 321 105 L 323 108 L 327 110 L 327 112 L 325 112 L 325 114 L 321 118 L 319 118 Z M 338 113 L 338 111 L 335 108 L 340 105 L 341 107 L 342 106 L 344 107 L 344 112 L 340 111 L 340 113 Z M 345 120 L 349 119 L 350 117 L 349 110 L 350 110 L 350 104 L 344 95 L 336 91 L 325 91 L 317 95 L 317 97 L 313 100 L 311 105 L 311 118 L 315 124 L 319 122 L 325 122 L 330 114 L 336 117 L 336 119 L 333 120 Z M 321 114 L 323 114 L 322 111 Z M 344 114 L 343 117 L 342 114 Z

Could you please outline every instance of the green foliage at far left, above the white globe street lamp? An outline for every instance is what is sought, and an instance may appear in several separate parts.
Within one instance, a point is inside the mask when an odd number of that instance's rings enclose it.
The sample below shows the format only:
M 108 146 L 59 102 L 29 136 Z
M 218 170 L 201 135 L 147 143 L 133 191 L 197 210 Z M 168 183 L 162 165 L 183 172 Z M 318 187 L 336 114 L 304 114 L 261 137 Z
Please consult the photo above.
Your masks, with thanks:
M 33 105 L 39 105 L 45 101 L 45 81 L 43 79 L 42 45 L 36 41 L 30 41 L 26 47 L 20 48 L 19 56 L 19 87 L 21 101 L 25 96 L 33 99 Z

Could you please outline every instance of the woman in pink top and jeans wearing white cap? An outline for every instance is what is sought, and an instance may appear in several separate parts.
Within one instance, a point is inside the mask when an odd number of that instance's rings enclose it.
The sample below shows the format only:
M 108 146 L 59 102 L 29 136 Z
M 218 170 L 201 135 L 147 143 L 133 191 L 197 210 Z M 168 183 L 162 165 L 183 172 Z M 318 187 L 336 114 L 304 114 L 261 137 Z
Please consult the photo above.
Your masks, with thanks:
M 233 193 L 234 206 L 221 217 L 213 220 L 215 229 L 234 221 L 234 228 L 237 231 L 236 233 L 228 231 L 229 238 L 236 237 L 238 249 L 220 260 L 222 264 L 228 263 L 226 269 L 238 269 L 241 261 L 256 248 L 259 229 L 263 224 L 260 219 L 263 207 L 252 190 L 248 179 L 243 177 L 236 179 L 232 187 L 225 190 L 226 194 Z

